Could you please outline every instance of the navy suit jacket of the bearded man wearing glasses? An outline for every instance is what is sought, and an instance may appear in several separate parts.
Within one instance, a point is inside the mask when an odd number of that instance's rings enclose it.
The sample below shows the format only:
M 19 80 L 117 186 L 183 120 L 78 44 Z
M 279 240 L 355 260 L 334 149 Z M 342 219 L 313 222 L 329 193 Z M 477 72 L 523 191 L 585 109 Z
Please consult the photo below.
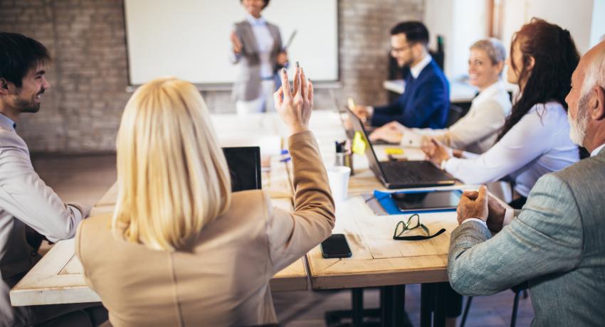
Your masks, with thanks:
M 372 126 L 396 120 L 410 128 L 446 127 L 450 107 L 450 85 L 435 60 L 431 60 L 418 78 L 406 77 L 406 90 L 395 102 L 374 107 Z

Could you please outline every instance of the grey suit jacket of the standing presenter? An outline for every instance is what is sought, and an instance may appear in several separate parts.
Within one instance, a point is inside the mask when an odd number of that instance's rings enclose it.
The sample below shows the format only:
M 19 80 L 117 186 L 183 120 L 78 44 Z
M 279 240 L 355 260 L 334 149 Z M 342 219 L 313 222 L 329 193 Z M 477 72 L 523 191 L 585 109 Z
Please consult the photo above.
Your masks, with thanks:
M 269 33 L 273 36 L 273 50 L 271 50 L 271 65 L 275 66 L 275 58 L 282 50 L 280 29 L 272 23 L 267 23 Z M 233 82 L 233 99 L 250 101 L 261 97 L 261 59 L 258 56 L 258 45 L 248 21 L 236 23 L 236 35 L 242 43 L 242 50 L 233 60 L 237 64 L 238 73 Z

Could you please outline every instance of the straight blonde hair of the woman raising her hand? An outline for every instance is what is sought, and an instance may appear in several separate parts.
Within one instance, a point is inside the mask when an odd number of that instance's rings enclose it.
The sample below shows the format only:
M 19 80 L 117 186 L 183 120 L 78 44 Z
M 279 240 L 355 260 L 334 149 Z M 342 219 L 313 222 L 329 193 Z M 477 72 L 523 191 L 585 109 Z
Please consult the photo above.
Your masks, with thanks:
M 116 148 L 116 236 L 174 251 L 229 208 L 225 156 L 191 83 L 142 85 L 126 104 Z

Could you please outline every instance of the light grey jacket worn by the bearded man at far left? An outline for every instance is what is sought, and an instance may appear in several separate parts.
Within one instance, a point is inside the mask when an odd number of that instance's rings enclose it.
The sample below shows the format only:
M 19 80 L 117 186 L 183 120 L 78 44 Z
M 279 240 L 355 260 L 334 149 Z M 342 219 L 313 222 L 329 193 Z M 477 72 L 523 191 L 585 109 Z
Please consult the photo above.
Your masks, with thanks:
M 49 240 L 75 235 L 88 209 L 65 205 L 33 171 L 25 141 L 0 120 L 0 326 L 28 326 L 36 311 L 13 307 L 9 291 L 39 259 L 26 242 L 29 225 Z

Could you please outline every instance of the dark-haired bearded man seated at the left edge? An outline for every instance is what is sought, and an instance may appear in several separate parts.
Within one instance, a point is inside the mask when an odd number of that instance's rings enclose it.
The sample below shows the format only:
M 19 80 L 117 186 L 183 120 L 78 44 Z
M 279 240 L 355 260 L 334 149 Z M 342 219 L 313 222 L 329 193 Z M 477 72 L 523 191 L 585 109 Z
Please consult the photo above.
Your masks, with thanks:
M 75 235 L 90 208 L 66 205 L 33 170 L 16 133 L 21 113 L 38 112 L 51 86 L 46 47 L 26 36 L 0 32 L 0 326 L 94 326 L 107 319 L 99 304 L 11 306 L 9 291 L 40 259 L 26 241 L 31 227 L 56 242 Z

